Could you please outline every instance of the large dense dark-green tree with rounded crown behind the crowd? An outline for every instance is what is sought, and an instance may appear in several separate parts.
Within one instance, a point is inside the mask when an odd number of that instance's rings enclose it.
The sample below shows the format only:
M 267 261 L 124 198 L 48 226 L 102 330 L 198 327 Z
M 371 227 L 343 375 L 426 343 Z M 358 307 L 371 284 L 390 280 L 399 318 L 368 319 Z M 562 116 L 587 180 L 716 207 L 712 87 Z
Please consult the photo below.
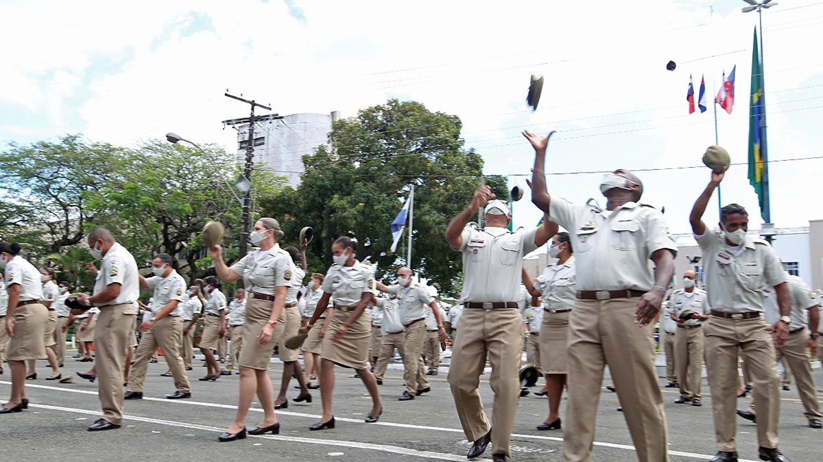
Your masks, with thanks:
M 460 254 L 443 234 L 480 185 L 483 167 L 481 156 L 464 148 L 461 127 L 457 116 L 412 101 L 390 99 L 360 110 L 356 118 L 334 122 L 331 149 L 320 146 L 304 157 L 296 190 L 281 190 L 261 206 L 281 219 L 286 245 L 296 244 L 301 227 L 314 227 L 311 270 L 325 272 L 333 239 L 347 234 L 358 239 L 360 259 L 378 264 L 380 277 L 407 264 L 404 255 L 389 252 L 389 224 L 414 184 L 412 269 L 451 292 Z M 505 178 L 487 177 L 486 183 L 508 195 Z

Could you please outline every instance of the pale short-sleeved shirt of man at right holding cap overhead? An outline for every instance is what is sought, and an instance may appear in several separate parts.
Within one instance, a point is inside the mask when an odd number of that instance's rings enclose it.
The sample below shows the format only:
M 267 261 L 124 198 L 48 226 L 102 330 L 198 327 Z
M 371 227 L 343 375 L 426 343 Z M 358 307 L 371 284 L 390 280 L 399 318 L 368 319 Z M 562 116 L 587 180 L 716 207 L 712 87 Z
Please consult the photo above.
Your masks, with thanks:
M 707 230 L 695 236 L 703 252 L 709 306 L 719 312 L 763 312 L 763 292 L 788 282 L 774 249 L 762 239 L 746 236 L 735 254 L 723 233 Z

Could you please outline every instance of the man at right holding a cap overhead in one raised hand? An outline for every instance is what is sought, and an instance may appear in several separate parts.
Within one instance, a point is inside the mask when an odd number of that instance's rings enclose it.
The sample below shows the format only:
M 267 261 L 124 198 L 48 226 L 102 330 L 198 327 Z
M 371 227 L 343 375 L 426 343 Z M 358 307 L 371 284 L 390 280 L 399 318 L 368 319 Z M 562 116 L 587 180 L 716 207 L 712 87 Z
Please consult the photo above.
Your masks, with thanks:
M 723 181 L 725 169 L 711 174 L 711 181 L 695 201 L 689 221 L 703 253 L 706 288 L 711 316 L 703 326 L 706 367 L 712 387 L 714 433 L 718 454 L 715 462 L 737 460 L 737 353 L 749 365 L 754 382 L 754 404 L 760 414 L 757 440 L 760 459 L 787 461 L 777 449 L 780 390 L 774 346 L 788 337 L 791 297 L 788 278 L 774 249 L 763 240 L 746 235 L 749 215 L 742 206 L 731 204 L 720 210 L 720 230 L 706 228 L 703 216 L 709 199 Z M 762 317 L 761 291 L 774 287 L 780 321 L 769 326 Z M 770 335 L 774 333 L 774 339 Z M 754 366 L 754 367 L 752 367 Z

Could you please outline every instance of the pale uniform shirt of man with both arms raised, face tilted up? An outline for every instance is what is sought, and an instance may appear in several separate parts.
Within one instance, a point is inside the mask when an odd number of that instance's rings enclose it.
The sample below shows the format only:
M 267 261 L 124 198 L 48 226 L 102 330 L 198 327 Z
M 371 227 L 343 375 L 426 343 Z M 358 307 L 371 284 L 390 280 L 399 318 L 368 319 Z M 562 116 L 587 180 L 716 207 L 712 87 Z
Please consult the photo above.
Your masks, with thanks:
M 537 248 L 537 228 L 510 233 L 504 228 L 463 229 L 463 301 L 518 302 L 523 256 Z

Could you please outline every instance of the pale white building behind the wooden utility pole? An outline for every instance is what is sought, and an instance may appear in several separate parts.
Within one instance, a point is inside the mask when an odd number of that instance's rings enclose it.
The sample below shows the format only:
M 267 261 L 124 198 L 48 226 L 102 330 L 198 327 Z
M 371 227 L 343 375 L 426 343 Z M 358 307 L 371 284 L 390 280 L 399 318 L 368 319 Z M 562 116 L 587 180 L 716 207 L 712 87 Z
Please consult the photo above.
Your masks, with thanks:
M 259 118 L 254 127 L 253 163 L 288 178 L 289 184 L 297 187 L 300 184 L 300 173 L 303 173 L 303 156 L 314 154 L 317 146 L 328 146 L 328 133 L 332 131 L 332 122 L 337 118 L 337 111 Z M 232 125 L 231 121 L 226 121 L 226 124 Z M 236 128 L 237 159 L 240 164 L 244 164 L 246 146 L 249 143 L 249 124 L 238 125 Z

